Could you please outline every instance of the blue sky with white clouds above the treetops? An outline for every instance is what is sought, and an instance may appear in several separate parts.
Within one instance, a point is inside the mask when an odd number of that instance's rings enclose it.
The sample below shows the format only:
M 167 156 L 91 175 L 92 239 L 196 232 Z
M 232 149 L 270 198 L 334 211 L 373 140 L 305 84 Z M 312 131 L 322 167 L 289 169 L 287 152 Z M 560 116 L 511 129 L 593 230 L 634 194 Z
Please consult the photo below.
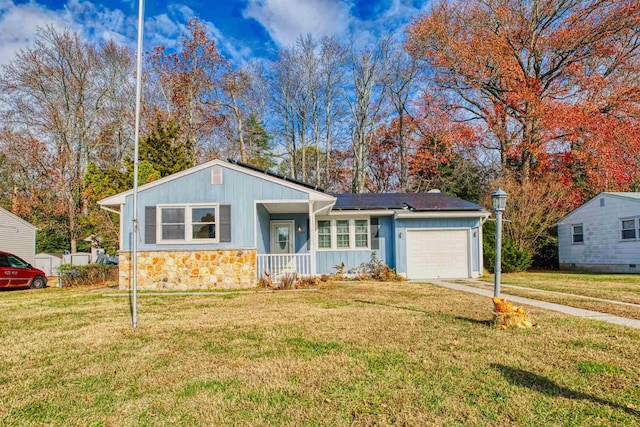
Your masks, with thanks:
M 365 43 L 381 31 L 398 32 L 428 0 L 145 0 L 145 50 L 171 48 L 187 20 L 206 24 L 220 51 L 235 64 L 273 58 L 300 34 L 350 34 Z M 0 64 L 30 46 L 38 27 L 80 32 L 91 41 L 114 39 L 135 47 L 138 0 L 0 0 Z

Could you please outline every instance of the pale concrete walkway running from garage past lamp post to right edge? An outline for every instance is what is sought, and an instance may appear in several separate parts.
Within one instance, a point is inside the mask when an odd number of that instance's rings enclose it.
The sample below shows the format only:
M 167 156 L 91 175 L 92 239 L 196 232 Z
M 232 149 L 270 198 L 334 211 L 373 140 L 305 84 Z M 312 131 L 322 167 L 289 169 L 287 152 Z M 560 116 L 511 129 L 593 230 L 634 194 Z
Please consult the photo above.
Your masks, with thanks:
M 472 294 L 482 295 L 489 298 L 493 297 L 492 289 L 491 290 L 479 289 L 479 288 L 476 288 L 473 286 L 467 286 L 461 283 L 452 283 L 446 280 L 437 280 L 437 279 L 428 280 L 426 282 L 433 283 L 434 285 L 442 286 L 444 288 L 449 288 L 456 291 L 469 292 Z M 484 284 L 484 282 L 477 282 L 477 283 Z M 512 296 L 512 295 L 509 295 L 508 293 L 505 293 L 504 291 L 501 292 L 501 295 L 508 297 L 509 301 L 513 303 L 521 304 L 521 305 L 540 307 L 547 310 L 570 314 L 572 316 L 601 320 L 603 322 L 614 323 L 616 325 L 629 326 L 630 328 L 640 329 L 640 320 L 637 320 L 637 319 L 628 319 L 626 317 L 614 316 L 612 314 L 600 313 L 598 311 L 584 310 L 582 308 L 569 307 L 566 305 L 555 304 L 552 302 L 539 301 L 531 298 Z M 566 294 L 566 295 L 569 295 L 569 294 Z M 575 295 L 571 295 L 571 296 L 575 296 Z

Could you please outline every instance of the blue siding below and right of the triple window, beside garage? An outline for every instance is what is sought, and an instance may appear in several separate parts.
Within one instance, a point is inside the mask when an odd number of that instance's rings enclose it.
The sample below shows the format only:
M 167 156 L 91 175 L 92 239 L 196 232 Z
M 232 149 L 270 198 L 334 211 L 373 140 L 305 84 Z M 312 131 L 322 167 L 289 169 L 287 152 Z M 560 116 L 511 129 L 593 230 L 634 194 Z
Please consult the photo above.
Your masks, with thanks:
M 345 271 L 358 268 L 362 263 L 371 260 L 371 254 L 376 253 L 379 260 L 384 261 L 389 267 L 395 268 L 394 241 L 393 241 L 393 217 L 379 217 L 379 242 L 380 248 L 373 250 L 318 250 L 316 253 L 316 270 L 318 274 L 333 274 L 334 268 L 344 263 Z

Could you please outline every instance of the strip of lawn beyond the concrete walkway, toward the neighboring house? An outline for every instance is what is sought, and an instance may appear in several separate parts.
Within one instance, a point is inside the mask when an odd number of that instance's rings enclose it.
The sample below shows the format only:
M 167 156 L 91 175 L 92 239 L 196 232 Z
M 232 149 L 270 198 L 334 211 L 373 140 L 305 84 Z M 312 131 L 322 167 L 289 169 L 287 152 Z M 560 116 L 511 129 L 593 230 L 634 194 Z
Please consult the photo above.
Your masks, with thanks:
M 576 272 L 525 272 L 502 274 L 501 290 L 508 295 L 539 299 L 616 316 L 640 319 L 640 307 L 589 300 L 579 296 L 601 298 L 640 305 L 640 275 L 593 274 Z M 486 289 L 493 289 L 493 275 L 485 275 Z M 515 285 L 527 289 L 516 289 Z M 551 291 L 551 292 L 542 292 Z M 569 295 L 557 295 L 562 292 Z M 570 295 L 575 295 L 572 297 Z

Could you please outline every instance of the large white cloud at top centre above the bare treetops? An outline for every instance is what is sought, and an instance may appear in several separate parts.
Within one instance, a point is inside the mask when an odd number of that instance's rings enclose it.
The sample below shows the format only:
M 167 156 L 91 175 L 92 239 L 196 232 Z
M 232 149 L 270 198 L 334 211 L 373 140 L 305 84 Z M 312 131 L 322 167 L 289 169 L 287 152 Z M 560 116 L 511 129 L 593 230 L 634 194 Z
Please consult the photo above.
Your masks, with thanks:
M 258 21 L 280 46 L 289 46 L 300 34 L 347 34 L 350 9 L 342 0 L 249 0 L 243 16 Z

